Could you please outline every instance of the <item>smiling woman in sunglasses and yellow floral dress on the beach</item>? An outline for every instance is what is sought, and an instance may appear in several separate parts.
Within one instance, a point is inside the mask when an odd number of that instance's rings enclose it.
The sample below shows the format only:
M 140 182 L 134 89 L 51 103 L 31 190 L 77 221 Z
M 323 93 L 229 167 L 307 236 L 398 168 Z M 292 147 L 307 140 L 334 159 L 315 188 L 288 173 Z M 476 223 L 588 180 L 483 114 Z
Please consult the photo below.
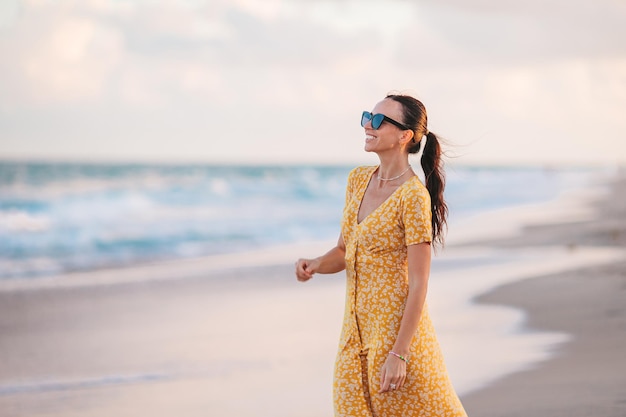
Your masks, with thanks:
M 365 150 L 380 165 L 350 173 L 337 246 L 296 262 L 303 282 L 346 270 L 335 415 L 466 416 L 425 302 L 431 242 L 443 243 L 447 215 L 438 139 L 424 105 L 405 95 L 388 95 L 363 112 L 361 125 Z M 423 142 L 426 186 L 408 160 Z

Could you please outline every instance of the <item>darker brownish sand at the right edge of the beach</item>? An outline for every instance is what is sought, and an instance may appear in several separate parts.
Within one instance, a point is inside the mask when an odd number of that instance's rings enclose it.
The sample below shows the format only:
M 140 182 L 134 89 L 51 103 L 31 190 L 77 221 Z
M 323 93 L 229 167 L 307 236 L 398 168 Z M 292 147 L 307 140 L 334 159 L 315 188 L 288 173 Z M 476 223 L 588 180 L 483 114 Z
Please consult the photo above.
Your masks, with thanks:
M 504 247 L 626 246 L 626 177 L 595 204 L 593 220 L 528 227 Z M 511 283 L 476 300 L 527 312 L 527 330 L 561 331 L 570 341 L 531 369 L 463 398 L 475 416 L 626 415 L 626 258 Z

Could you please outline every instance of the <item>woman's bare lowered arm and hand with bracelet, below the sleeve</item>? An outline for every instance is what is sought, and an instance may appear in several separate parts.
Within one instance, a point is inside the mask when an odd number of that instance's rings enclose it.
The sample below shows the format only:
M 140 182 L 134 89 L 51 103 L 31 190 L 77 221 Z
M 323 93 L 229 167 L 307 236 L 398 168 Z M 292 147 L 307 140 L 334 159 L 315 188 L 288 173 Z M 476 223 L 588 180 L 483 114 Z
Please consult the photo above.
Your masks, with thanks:
M 429 242 L 409 245 L 409 294 L 400 322 L 400 330 L 393 345 L 392 352 L 407 358 L 411 346 L 411 340 L 417 331 L 417 326 L 422 316 L 426 291 L 428 289 L 428 277 L 430 275 L 431 247 Z M 390 390 L 390 385 L 395 384 L 399 389 L 406 379 L 406 362 L 395 355 L 389 354 L 380 373 L 380 392 Z

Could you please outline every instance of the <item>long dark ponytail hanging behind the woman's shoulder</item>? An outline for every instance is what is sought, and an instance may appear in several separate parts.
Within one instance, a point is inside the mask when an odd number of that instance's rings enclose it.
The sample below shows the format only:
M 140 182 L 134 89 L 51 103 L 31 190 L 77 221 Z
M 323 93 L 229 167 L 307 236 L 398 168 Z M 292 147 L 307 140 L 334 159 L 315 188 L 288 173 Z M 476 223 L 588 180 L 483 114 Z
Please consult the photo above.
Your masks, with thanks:
M 422 169 L 426 189 L 430 194 L 430 208 L 432 214 L 433 242 L 443 245 L 444 232 L 448 217 L 448 205 L 443 198 L 443 190 L 446 186 L 446 178 L 443 171 L 441 158 L 441 146 L 433 132 L 426 135 L 424 152 L 422 154 Z

